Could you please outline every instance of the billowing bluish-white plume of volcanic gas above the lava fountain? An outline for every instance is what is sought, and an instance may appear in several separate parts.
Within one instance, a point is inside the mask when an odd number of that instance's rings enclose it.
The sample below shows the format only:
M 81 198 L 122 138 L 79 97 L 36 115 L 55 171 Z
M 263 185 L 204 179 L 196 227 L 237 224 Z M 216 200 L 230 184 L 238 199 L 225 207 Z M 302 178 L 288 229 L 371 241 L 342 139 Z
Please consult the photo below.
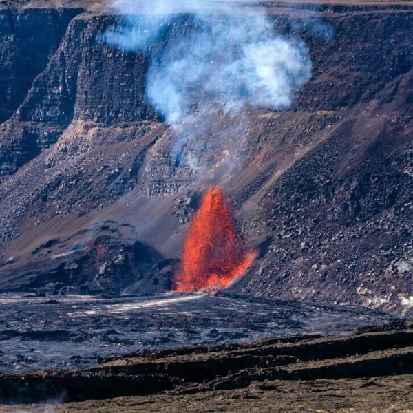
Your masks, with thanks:
M 205 134 L 215 114 L 288 108 L 311 76 L 304 42 L 277 33 L 264 8 L 225 0 L 112 0 L 111 6 L 125 24 L 103 41 L 148 54 L 147 99 L 181 147 L 188 134 Z

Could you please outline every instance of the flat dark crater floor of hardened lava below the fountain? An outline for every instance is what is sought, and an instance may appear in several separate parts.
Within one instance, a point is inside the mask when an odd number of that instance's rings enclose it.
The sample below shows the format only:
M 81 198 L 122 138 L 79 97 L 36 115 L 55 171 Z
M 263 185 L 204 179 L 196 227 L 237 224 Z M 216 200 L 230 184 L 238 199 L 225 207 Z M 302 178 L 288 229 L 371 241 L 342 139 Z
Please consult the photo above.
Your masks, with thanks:
M 223 294 L 1 295 L 0 372 L 90 366 L 98 357 L 162 347 L 344 334 L 395 319 L 373 310 Z

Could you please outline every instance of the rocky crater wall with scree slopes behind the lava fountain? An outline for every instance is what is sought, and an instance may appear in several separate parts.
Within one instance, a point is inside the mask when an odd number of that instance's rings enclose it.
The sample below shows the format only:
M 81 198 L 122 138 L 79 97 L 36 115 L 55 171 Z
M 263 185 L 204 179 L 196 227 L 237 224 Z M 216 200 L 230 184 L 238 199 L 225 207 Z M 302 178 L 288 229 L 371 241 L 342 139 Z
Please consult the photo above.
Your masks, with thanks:
M 121 18 L 96 4 L 0 5 L 1 290 L 169 289 L 208 183 L 171 158 L 172 132 L 145 98 L 162 43 L 103 43 Z M 253 111 L 242 131 L 224 193 L 261 254 L 231 289 L 412 313 L 413 5 L 268 10 L 310 47 L 313 78 L 289 110 Z M 217 115 L 214 133 L 231 124 Z M 205 142 L 208 167 L 222 150 Z

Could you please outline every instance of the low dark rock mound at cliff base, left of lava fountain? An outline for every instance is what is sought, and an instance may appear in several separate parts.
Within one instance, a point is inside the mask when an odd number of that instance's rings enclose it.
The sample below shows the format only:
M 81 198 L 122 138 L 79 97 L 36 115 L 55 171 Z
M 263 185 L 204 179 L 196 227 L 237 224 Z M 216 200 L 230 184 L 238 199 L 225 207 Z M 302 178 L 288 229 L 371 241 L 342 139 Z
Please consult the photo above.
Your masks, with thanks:
M 48 242 L 47 244 L 50 244 Z M 47 245 L 46 244 L 46 245 Z M 43 294 L 97 294 L 118 295 L 133 290 L 147 295 L 170 289 L 169 282 L 158 268 L 162 255 L 141 242 L 125 243 L 116 237 L 103 235 L 80 244 L 61 255 L 33 252 L 43 260 L 13 271 L 18 286 L 6 290 L 42 291 Z M 25 279 L 26 283 L 21 284 Z

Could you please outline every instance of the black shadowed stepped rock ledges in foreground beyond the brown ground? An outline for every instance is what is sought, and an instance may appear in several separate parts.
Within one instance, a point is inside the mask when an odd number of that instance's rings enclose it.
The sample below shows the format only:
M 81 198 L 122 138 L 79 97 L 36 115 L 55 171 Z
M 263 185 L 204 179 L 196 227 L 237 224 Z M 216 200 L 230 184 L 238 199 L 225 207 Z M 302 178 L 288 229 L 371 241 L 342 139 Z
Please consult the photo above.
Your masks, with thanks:
M 246 388 L 252 382 L 370 378 L 413 373 L 411 330 L 298 341 L 264 339 L 226 348 L 145 352 L 86 370 L 0 376 L 3 403 L 65 401 Z

